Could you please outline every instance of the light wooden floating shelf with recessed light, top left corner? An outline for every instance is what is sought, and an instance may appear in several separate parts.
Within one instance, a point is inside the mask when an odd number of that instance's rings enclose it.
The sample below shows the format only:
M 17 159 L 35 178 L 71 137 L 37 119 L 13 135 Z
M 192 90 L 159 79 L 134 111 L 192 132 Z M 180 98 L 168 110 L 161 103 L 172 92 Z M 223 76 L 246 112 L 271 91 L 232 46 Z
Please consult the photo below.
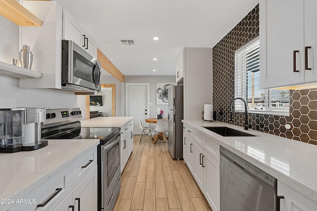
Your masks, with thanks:
M 0 15 L 18 26 L 42 26 L 43 21 L 15 0 L 0 0 Z

